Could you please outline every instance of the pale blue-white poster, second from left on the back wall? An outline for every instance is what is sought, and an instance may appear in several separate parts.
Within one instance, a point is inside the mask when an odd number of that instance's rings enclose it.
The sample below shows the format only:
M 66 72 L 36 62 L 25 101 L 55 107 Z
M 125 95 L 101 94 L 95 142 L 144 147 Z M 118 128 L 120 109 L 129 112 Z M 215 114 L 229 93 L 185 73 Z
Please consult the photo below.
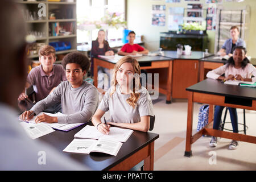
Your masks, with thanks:
M 183 24 L 183 7 L 170 7 L 168 14 L 168 30 L 178 31 Z

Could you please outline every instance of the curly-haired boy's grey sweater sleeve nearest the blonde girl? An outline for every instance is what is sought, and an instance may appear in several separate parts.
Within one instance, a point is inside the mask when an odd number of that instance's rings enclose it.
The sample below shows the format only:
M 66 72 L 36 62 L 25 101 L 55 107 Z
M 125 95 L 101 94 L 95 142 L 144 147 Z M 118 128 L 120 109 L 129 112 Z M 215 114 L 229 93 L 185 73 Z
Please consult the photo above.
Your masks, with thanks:
M 85 102 L 81 111 L 58 117 L 58 123 L 84 123 L 92 118 L 98 106 L 98 90 L 92 87 L 84 94 Z M 82 100 L 82 98 L 81 98 Z M 67 101 L 68 102 L 68 101 Z

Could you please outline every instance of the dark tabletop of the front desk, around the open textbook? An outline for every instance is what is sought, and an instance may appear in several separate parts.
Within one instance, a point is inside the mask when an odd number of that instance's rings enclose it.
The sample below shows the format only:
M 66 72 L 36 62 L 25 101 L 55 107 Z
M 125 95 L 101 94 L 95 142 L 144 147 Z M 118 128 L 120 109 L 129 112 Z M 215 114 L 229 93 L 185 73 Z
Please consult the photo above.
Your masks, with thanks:
M 90 125 L 92 124 L 90 123 Z M 72 154 L 63 152 L 64 148 L 74 139 L 74 135 L 85 126 L 86 125 L 79 126 L 68 132 L 56 130 L 53 133 L 44 135 L 38 139 L 56 148 L 60 152 L 60 155 L 75 159 L 92 170 L 108 170 L 159 138 L 159 134 L 134 131 L 130 138 L 122 144 L 117 156 L 100 152 L 92 152 L 90 154 Z

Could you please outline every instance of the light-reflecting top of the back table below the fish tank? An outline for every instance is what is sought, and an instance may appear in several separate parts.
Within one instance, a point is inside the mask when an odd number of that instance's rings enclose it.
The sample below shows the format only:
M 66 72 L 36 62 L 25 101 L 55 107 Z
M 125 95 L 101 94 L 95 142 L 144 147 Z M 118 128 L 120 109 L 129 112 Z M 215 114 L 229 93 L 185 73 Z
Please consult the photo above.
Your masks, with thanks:
M 187 60 L 200 60 L 206 56 L 212 56 L 212 53 L 205 55 L 203 51 L 191 51 L 191 55 L 177 55 L 177 51 L 163 51 L 166 57 L 170 57 L 171 59 L 187 59 Z

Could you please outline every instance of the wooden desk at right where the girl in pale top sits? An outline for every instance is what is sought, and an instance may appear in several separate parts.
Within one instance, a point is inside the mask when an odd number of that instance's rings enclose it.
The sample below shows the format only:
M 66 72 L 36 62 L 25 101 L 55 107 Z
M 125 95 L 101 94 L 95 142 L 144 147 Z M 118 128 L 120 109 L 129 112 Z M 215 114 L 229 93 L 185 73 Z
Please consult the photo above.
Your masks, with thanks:
M 256 110 L 256 90 L 237 85 L 222 84 L 218 80 L 207 78 L 188 90 L 188 118 L 185 156 L 191 156 L 191 145 L 202 135 L 228 138 L 243 142 L 256 143 L 256 137 L 212 129 L 213 105 L 236 107 L 241 109 Z M 209 104 L 208 125 L 192 136 L 193 102 Z

